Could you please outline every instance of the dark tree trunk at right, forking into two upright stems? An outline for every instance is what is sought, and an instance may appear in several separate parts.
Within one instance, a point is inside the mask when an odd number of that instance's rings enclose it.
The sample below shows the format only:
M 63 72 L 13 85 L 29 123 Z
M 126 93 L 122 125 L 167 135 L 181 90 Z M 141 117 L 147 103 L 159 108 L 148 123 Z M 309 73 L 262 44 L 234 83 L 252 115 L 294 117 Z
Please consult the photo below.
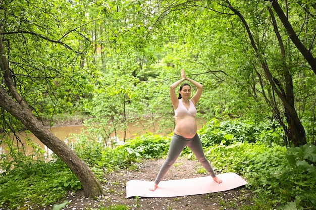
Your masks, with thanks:
M 282 59 L 281 59 L 282 74 L 279 75 L 279 78 L 282 78 L 282 81 L 280 81 L 276 76 L 273 76 L 273 73 L 270 70 L 271 68 L 269 68 L 269 62 L 267 61 L 267 57 L 265 56 L 266 52 L 264 49 L 258 46 L 259 45 L 258 41 L 255 42 L 255 39 L 258 40 L 258 37 L 253 36 L 251 32 L 251 28 L 249 27 L 249 24 L 247 23 L 244 16 L 229 1 L 226 1 L 226 3 L 227 3 L 227 7 L 230 10 L 232 10 L 234 14 L 236 14 L 240 18 L 242 24 L 246 28 L 247 34 L 249 36 L 250 44 L 253 47 L 255 51 L 255 55 L 257 56 L 261 64 L 261 68 L 264 70 L 265 77 L 270 82 L 273 91 L 277 93 L 278 97 L 283 102 L 286 121 L 288 124 L 287 128 L 284 127 L 286 136 L 289 138 L 289 140 L 293 143 L 294 146 L 305 144 L 306 143 L 305 130 L 298 117 L 298 114 L 295 109 L 295 104 L 294 104 L 293 80 L 292 80 L 292 75 L 289 71 L 289 67 L 288 67 L 289 64 L 287 63 L 287 60 L 286 60 L 287 52 L 286 52 L 286 48 L 284 47 L 284 43 L 280 35 L 279 28 L 278 28 L 276 19 L 274 17 L 273 11 L 271 11 L 269 8 L 267 9 L 270 13 L 270 17 L 273 23 L 274 33 L 275 33 L 276 39 L 278 40 L 280 53 L 282 56 Z M 310 61 L 309 57 L 308 57 L 308 60 Z M 310 64 L 312 65 L 312 62 Z M 274 110 L 274 111 L 277 112 L 277 114 L 280 113 L 277 110 Z M 280 117 L 278 119 L 280 119 Z M 283 121 L 280 120 L 280 123 L 282 124 Z

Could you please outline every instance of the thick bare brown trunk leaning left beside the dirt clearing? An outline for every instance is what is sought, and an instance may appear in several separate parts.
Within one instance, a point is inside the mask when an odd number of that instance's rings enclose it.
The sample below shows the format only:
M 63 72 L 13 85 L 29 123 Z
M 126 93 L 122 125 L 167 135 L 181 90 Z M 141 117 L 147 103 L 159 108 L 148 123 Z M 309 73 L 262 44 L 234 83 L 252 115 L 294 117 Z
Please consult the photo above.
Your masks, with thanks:
M 29 109 L 27 102 L 21 97 L 16 90 L 12 81 L 12 73 L 9 70 L 4 47 L 0 36 L 0 67 L 3 72 L 5 85 L 0 87 L 0 107 L 4 108 L 12 116 L 18 119 L 25 127 L 30 130 L 44 145 L 55 152 L 77 176 L 82 184 L 85 195 L 88 197 L 99 196 L 104 194 L 102 185 L 99 183 L 93 172 L 87 165 L 69 148 L 63 141 L 50 133 L 42 123 L 36 119 L 32 111 Z M 10 97 L 6 91 L 15 98 Z

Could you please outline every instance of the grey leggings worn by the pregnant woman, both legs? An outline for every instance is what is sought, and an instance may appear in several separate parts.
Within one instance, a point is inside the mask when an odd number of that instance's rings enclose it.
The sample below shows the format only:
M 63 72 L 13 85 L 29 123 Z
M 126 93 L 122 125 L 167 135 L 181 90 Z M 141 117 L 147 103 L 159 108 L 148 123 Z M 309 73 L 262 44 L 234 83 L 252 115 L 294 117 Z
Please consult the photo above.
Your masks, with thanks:
M 166 175 L 170 167 L 176 162 L 178 156 L 180 155 L 185 146 L 188 146 L 193 151 L 197 160 L 206 169 L 210 176 L 212 176 L 213 178 L 215 177 L 215 173 L 212 167 L 209 165 L 207 159 L 205 158 L 202 143 L 199 136 L 195 134 L 193 138 L 187 139 L 177 134 L 174 134 L 170 142 L 167 159 L 160 168 L 160 171 L 154 181 L 155 184 L 159 184 L 159 182 Z

